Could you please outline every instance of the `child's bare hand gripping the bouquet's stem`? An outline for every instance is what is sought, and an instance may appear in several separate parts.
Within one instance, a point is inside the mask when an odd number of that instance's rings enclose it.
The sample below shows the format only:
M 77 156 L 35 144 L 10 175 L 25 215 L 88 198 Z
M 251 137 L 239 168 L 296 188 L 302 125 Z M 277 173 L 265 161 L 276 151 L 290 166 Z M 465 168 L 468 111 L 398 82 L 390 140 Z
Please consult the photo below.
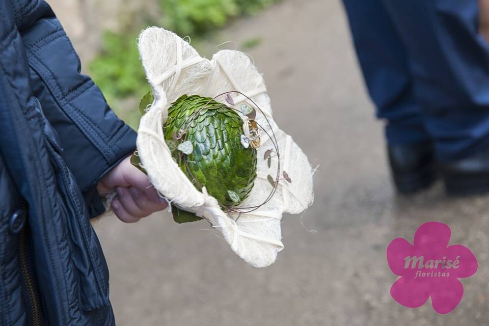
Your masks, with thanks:
M 122 222 L 138 222 L 141 218 L 168 207 L 168 203 L 158 196 L 148 177 L 131 164 L 130 156 L 97 184 L 97 191 L 101 196 L 114 188 L 117 198 L 112 202 L 112 209 Z

